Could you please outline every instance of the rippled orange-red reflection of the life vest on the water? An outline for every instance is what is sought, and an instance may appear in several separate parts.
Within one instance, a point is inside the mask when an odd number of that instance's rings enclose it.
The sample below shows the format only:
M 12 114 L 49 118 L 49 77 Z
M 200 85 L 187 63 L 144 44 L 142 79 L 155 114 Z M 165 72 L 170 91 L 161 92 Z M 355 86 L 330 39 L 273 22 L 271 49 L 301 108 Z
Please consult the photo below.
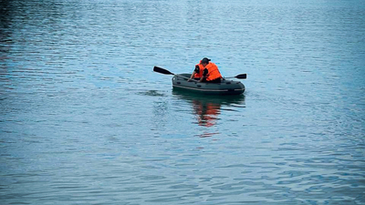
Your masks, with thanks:
M 212 127 L 221 113 L 221 104 L 193 100 L 193 108 L 200 126 Z

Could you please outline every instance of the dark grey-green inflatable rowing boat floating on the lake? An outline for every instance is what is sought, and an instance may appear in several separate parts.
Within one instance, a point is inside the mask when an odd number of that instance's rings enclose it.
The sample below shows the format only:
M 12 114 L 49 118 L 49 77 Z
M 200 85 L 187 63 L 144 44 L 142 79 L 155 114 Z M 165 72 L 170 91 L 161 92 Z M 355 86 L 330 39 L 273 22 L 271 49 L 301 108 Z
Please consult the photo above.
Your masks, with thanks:
M 189 81 L 191 74 L 179 74 L 172 77 L 174 89 L 184 89 L 207 95 L 240 95 L 245 86 L 240 81 L 223 79 L 221 83 Z

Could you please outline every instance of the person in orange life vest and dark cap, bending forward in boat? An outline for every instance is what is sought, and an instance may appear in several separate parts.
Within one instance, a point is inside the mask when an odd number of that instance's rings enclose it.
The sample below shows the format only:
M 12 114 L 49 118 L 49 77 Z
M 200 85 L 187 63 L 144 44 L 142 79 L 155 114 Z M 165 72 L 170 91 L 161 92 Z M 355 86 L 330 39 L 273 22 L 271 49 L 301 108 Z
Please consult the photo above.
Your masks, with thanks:
M 189 81 L 195 79 L 199 82 L 220 83 L 223 77 L 218 67 L 210 61 L 211 59 L 204 57 L 199 64 L 195 65 Z

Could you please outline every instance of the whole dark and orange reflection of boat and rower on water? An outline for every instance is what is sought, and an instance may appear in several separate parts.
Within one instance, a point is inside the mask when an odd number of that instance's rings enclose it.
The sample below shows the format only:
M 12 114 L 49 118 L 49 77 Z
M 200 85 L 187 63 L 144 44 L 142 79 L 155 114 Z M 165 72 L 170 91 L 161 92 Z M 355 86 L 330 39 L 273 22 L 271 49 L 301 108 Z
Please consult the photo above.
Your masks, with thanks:
M 172 94 L 193 105 L 198 125 L 212 127 L 219 119 L 221 108 L 224 105 L 244 105 L 245 96 L 204 96 L 189 91 L 173 90 Z

